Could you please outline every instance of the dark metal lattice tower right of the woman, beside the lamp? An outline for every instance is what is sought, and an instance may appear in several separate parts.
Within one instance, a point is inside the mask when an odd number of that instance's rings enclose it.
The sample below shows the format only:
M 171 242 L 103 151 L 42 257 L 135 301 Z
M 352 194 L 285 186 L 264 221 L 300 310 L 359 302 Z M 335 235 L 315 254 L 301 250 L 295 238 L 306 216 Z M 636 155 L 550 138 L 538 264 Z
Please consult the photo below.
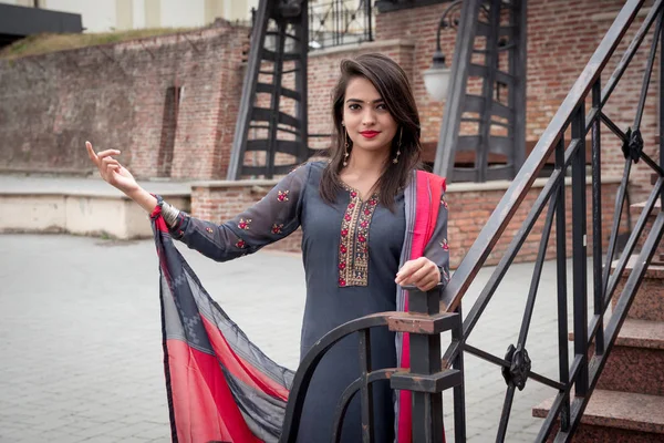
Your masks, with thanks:
M 456 0 L 440 18 L 436 54 L 440 30 L 458 24 L 434 164 L 434 173 L 448 181 L 511 179 L 523 163 L 526 18 L 525 0 Z M 468 92 L 473 83 L 481 84 L 480 94 Z M 463 125 L 473 127 L 461 135 Z M 460 151 L 475 153 L 473 167 L 455 167 Z M 501 154 L 506 163 L 490 164 L 490 154 Z

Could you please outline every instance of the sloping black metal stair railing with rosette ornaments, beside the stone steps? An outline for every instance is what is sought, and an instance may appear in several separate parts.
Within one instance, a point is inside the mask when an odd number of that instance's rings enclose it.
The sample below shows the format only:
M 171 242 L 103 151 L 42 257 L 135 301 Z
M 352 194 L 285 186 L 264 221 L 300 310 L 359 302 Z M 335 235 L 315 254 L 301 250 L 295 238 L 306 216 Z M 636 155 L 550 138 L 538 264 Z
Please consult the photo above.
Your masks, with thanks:
M 543 167 L 547 158 L 552 154 L 556 157 L 556 168 L 547 181 L 543 189 L 530 207 L 526 220 L 512 238 L 511 244 L 495 268 L 489 281 L 481 289 L 479 298 L 471 307 L 464 321 L 463 336 L 460 340 L 453 343 L 445 352 L 444 360 L 452 360 L 459 353 L 470 353 L 486 361 L 495 363 L 502 369 L 506 375 L 507 390 L 498 423 L 497 441 L 504 441 L 511 413 L 511 404 L 516 389 L 522 389 L 528 379 L 538 381 L 558 391 L 551 410 L 543 421 L 537 441 L 546 441 L 554 425 L 558 423 L 559 431 L 556 441 L 569 441 L 579 426 L 581 416 L 589 399 L 598 383 L 609 353 L 615 342 L 618 331 L 626 318 L 636 290 L 643 279 L 645 270 L 651 264 L 655 248 L 662 237 L 664 228 L 664 214 L 658 212 L 650 234 L 639 253 L 634 268 L 627 277 L 626 284 L 615 301 L 615 306 L 609 317 L 608 308 L 620 278 L 623 276 L 629 258 L 635 251 L 637 241 L 653 213 L 655 202 L 662 198 L 662 185 L 664 172 L 662 169 L 663 158 L 655 161 L 643 151 L 643 138 L 641 136 L 641 120 L 643 115 L 645 99 L 649 93 L 654 61 L 657 47 L 662 47 L 662 1 L 655 1 L 643 20 L 639 30 L 634 33 L 626 49 L 606 84 L 602 87 L 602 73 L 619 44 L 623 41 L 631 25 L 635 22 L 639 11 L 644 1 L 626 1 L 618 14 L 614 23 L 600 43 L 582 74 L 572 86 L 571 92 L 553 116 L 549 127 L 536 145 L 519 174 L 512 182 L 498 207 L 480 231 L 477 240 L 457 268 L 452 281 L 443 296 L 443 308 L 453 311 L 460 306 L 461 298 L 474 281 L 475 276 L 484 266 L 494 246 L 501 237 L 501 233 L 508 226 L 516 212 L 521 206 L 526 195 L 530 192 L 532 182 Z M 608 111 L 606 102 L 616 89 L 620 80 L 627 70 L 640 45 L 652 31 L 652 47 L 650 50 L 647 66 L 643 76 L 640 100 L 635 109 L 635 117 L 631 127 L 626 131 L 614 123 Z M 660 104 L 662 105 L 662 84 L 660 85 Z M 590 112 L 585 112 L 585 103 L 590 101 Z M 601 155 L 602 151 L 602 125 L 618 137 L 622 144 L 625 156 L 624 172 L 613 214 L 613 224 L 609 237 L 606 250 L 602 247 L 602 185 L 601 185 Z M 662 131 L 662 124 L 660 125 Z M 566 133 L 571 130 L 571 138 L 566 141 Z M 592 147 L 592 275 L 593 288 L 588 289 L 588 226 L 587 210 L 587 162 L 585 143 L 590 134 Z M 660 140 L 662 134 L 660 133 Z M 661 142 L 660 142 L 661 143 Z M 643 161 L 660 177 L 652 192 L 642 214 L 632 230 L 624 250 L 616 256 L 618 235 L 623 216 L 624 202 L 626 200 L 627 185 L 632 164 Z M 567 270 L 567 208 L 564 195 L 564 177 L 571 171 L 571 260 L 572 260 L 572 309 L 573 309 L 573 356 L 568 352 L 568 270 Z M 512 260 L 519 253 L 526 238 L 531 233 L 536 222 L 546 209 L 544 226 L 540 239 L 538 257 L 532 274 L 531 285 L 528 292 L 525 313 L 516 347 L 505 358 L 492 356 L 483 350 L 467 344 L 467 339 L 488 302 L 496 292 L 499 284 L 509 269 Z M 558 281 L 558 341 L 559 341 L 559 377 L 558 380 L 543 377 L 531 370 L 530 359 L 526 350 L 528 331 L 532 318 L 535 301 L 542 265 L 544 262 L 549 237 L 554 229 L 556 234 L 556 260 Z M 618 264 L 611 272 L 612 264 L 618 258 Z M 592 293 L 592 296 L 591 296 Z M 589 300 L 592 302 L 592 316 L 588 317 Z M 604 319 L 606 324 L 604 326 Z

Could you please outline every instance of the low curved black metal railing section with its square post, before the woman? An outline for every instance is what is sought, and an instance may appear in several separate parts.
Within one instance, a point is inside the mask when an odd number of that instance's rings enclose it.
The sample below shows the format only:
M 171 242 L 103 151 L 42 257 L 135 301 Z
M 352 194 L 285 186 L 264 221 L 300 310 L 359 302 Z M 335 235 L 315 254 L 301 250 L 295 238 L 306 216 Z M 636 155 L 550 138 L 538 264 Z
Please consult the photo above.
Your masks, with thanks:
M 460 313 L 439 311 L 439 289 L 428 292 L 422 292 L 414 287 L 406 289 L 409 291 L 409 312 L 382 312 L 349 321 L 325 334 L 309 350 L 293 379 L 280 442 L 297 441 L 307 389 L 319 362 L 334 344 L 351 334 L 356 334 L 359 338 L 361 374 L 345 389 L 339 400 L 333 419 L 332 442 L 341 442 L 343 419 L 351 400 L 356 394 L 360 395 L 362 411 L 362 441 L 374 442 L 372 384 L 383 380 L 390 380 L 393 390 L 413 392 L 414 443 L 439 441 L 436 435 L 439 436 L 443 433 L 443 398 L 440 393 L 444 390 L 454 389 L 455 422 L 457 423 L 455 432 L 457 439 L 464 437 L 464 357 L 463 354 L 456 356 L 452 369 L 443 368 L 440 360 L 440 333 L 452 331 L 453 338 L 460 337 Z M 372 369 L 371 329 L 380 327 L 395 332 L 409 333 L 412 362 L 409 370 Z M 340 364 L 343 363 L 340 362 Z

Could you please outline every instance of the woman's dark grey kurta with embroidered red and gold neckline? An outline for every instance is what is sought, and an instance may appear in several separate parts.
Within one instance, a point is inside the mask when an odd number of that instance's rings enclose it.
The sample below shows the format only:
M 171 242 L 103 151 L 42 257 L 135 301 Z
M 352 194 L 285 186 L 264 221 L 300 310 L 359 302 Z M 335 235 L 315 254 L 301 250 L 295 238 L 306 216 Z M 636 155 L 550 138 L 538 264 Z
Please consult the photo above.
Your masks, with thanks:
M 397 310 L 395 275 L 404 256 L 406 230 L 404 194 L 393 210 L 372 196 L 362 200 L 345 187 L 332 205 L 323 202 L 319 184 L 323 162 L 308 163 L 280 181 L 259 203 L 224 225 L 181 214 L 172 229 L 175 238 L 204 255 L 225 261 L 253 253 L 302 227 L 302 258 L 307 302 L 302 322 L 301 357 L 325 333 L 346 321 Z M 434 231 L 436 241 L 425 255 L 447 281 L 446 204 Z M 445 210 L 443 210 L 445 209 Z M 373 369 L 397 365 L 394 334 L 372 331 Z M 329 442 L 334 410 L 343 390 L 360 375 L 357 338 L 338 343 L 321 361 L 309 388 L 299 441 Z M 394 406 L 388 382 L 374 387 L 376 441 L 394 435 Z M 346 413 L 343 442 L 361 441 L 360 404 Z

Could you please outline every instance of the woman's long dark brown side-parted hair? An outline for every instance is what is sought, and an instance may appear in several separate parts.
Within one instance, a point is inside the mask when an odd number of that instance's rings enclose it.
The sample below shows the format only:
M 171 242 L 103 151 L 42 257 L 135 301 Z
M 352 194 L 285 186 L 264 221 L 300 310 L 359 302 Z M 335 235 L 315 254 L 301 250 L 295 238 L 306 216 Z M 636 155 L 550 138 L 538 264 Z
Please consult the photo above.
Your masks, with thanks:
M 349 82 L 354 78 L 369 80 L 381 99 L 384 100 L 387 111 L 397 124 L 396 135 L 392 140 L 390 157 L 385 164 L 383 174 L 376 182 L 375 188 L 380 193 L 380 202 L 392 208 L 394 197 L 400 188 L 407 184 L 413 169 L 421 167 L 419 156 L 422 145 L 419 144 L 419 115 L 411 83 L 406 73 L 398 64 L 386 55 L 372 53 L 362 54 L 353 60 L 342 60 L 341 78 L 332 91 L 332 120 L 334 133 L 329 150 L 330 163 L 323 171 L 320 193 L 323 200 L 333 203 L 341 188 L 339 173 L 343 167 L 345 133 L 341 122 L 343 120 L 343 103 Z M 401 147 L 398 145 L 400 132 Z M 396 151 L 401 151 L 398 163 L 392 159 Z M 352 155 L 353 142 L 349 138 L 349 153 Z

